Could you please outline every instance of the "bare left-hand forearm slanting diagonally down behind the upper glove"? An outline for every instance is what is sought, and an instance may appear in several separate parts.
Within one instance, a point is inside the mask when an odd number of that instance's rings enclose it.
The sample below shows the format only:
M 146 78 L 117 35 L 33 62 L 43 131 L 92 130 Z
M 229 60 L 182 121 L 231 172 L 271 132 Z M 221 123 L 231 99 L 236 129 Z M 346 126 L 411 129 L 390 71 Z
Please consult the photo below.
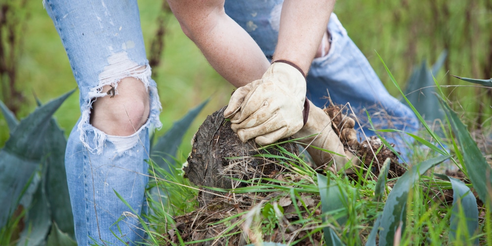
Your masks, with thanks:
M 236 87 L 261 78 L 269 66 L 265 55 L 224 12 L 223 0 L 168 0 L 186 35 L 227 81 Z

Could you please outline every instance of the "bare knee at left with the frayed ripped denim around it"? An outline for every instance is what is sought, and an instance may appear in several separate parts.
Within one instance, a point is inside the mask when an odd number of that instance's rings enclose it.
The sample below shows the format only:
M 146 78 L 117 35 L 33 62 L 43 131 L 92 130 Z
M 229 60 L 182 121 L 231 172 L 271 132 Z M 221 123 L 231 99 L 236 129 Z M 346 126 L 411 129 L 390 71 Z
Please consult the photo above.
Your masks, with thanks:
M 126 52 L 116 53 L 108 58 L 98 79 L 87 95 L 81 95 L 82 116 L 77 125 L 89 151 L 102 153 L 108 140 L 123 153 L 138 144 L 143 129 L 162 126 L 162 108 L 147 63 L 132 61 Z

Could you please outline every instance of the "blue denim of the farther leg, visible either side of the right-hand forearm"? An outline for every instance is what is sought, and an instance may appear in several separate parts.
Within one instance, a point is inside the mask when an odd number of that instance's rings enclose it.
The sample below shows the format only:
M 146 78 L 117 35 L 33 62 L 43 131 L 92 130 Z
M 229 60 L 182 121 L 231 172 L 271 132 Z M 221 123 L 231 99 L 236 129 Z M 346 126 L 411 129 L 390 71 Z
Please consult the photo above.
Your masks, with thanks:
M 260 46 L 265 56 L 272 58 L 277 45 L 280 11 L 283 0 L 265 0 L 251 4 L 251 0 L 226 0 L 225 11 L 243 27 Z M 366 111 L 376 129 L 395 128 L 415 132 L 418 121 L 407 106 L 400 103 L 385 89 L 368 60 L 352 42 L 347 31 L 332 13 L 327 28 L 331 47 L 324 57 L 316 58 L 307 74 L 307 98 L 316 106 L 329 104 L 330 95 L 337 104 L 350 104 L 349 113 L 359 119 L 356 125 L 360 139 L 373 136 L 369 130 Z M 348 108 L 348 106 L 347 106 Z M 412 139 L 401 133 L 382 133 L 388 142 L 405 157 Z

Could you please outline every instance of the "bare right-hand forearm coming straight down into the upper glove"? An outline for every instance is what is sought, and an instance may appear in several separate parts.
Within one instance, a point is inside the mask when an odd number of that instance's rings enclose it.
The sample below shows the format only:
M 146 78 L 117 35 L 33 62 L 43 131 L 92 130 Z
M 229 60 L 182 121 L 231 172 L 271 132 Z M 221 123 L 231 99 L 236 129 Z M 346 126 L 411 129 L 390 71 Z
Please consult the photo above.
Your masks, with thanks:
M 307 74 L 326 32 L 335 0 L 285 0 L 273 60 L 288 60 Z

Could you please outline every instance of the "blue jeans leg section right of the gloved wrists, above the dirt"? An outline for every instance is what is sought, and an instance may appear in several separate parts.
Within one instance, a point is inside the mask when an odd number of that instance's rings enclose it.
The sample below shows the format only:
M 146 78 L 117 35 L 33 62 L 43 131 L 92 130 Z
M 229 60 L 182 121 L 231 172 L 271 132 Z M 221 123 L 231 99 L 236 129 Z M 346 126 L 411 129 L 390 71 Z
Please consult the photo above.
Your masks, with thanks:
M 406 105 L 389 94 L 368 60 L 347 35 L 335 14 L 330 16 L 328 31 L 331 35 L 329 53 L 314 59 L 307 75 L 307 97 L 317 106 L 328 105 L 326 96 L 333 102 L 350 103 L 359 119 L 359 137 L 373 136 L 369 130 L 369 112 L 375 129 L 393 128 L 407 132 L 418 129 L 415 114 Z M 350 112 L 351 113 L 351 112 Z M 412 139 L 401 133 L 381 133 L 405 156 Z

